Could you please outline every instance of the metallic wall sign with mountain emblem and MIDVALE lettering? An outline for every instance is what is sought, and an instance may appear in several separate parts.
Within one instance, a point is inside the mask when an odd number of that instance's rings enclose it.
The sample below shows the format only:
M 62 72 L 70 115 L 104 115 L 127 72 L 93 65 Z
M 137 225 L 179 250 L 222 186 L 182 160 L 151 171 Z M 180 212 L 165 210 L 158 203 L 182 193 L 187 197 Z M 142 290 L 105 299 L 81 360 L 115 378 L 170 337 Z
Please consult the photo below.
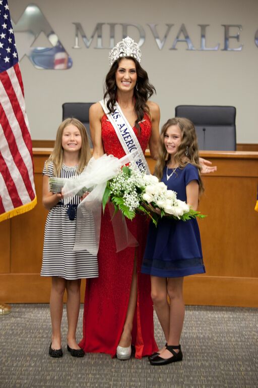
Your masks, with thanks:
M 73 24 L 75 26 L 75 44 L 73 49 L 81 48 L 80 37 L 86 49 L 89 49 L 95 37 L 96 44 L 93 47 L 94 49 L 111 49 L 115 45 L 116 26 L 122 27 L 122 36 L 119 36 L 118 40 L 128 35 L 128 27 L 133 27 L 139 34 L 138 44 L 141 46 L 145 42 L 145 30 L 138 23 L 96 23 L 93 32 L 88 35 L 89 37 L 87 37 L 81 23 L 73 22 Z M 38 6 L 35 4 L 28 5 L 20 20 L 16 24 L 13 22 L 13 26 L 20 61 L 24 56 L 27 56 L 37 69 L 65 70 L 72 67 L 72 58 L 64 49 L 58 36 Z M 106 33 L 103 32 L 103 26 L 109 27 L 108 46 L 103 45 L 103 37 L 107 38 Z M 162 50 L 168 41 L 168 35 L 170 34 L 171 36 L 171 31 L 174 30 L 174 24 L 166 24 L 166 31 L 163 37 L 160 37 L 158 33 L 157 24 L 147 24 L 147 26 L 150 28 L 159 50 Z M 175 38 L 171 40 L 172 45 L 170 43 L 168 50 L 178 50 L 178 46 L 183 44 L 185 49 L 189 51 L 218 51 L 220 43 L 216 42 L 213 47 L 207 47 L 206 45 L 207 27 L 209 26 L 209 24 L 198 24 L 198 27 L 200 27 L 200 46 L 197 47 L 196 43 L 194 45 L 190 39 L 186 26 L 181 24 L 177 33 L 175 31 Z M 224 28 L 224 47 L 220 50 L 230 52 L 242 51 L 243 44 L 239 43 L 238 47 L 231 47 L 232 40 L 235 42 L 240 41 L 242 26 L 240 24 L 222 24 L 221 27 Z M 34 42 L 41 33 L 48 39 L 50 47 L 35 47 Z M 255 33 L 254 42 L 258 46 L 258 30 Z

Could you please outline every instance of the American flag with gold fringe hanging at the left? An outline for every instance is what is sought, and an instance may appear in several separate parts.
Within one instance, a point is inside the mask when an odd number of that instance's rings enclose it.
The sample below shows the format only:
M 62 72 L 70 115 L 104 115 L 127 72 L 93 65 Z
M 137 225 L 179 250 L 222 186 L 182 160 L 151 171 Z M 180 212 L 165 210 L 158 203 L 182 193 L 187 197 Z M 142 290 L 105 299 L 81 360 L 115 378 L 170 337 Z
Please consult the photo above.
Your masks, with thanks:
M 0 0 L 0 221 L 37 203 L 32 142 L 7 0 Z

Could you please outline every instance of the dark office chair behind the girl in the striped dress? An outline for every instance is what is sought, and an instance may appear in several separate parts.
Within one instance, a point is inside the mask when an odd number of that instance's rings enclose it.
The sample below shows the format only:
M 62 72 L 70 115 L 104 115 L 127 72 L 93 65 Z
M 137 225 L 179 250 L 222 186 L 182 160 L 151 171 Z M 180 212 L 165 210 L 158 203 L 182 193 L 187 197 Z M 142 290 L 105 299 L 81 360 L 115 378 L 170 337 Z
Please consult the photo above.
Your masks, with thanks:
M 80 120 L 89 135 L 90 147 L 92 148 L 91 135 L 90 135 L 90 120 L 89 120 L 89 109 L 94 103 L 64 103 L 62 104 L 62 120 L 68 117 L 74 117 Z

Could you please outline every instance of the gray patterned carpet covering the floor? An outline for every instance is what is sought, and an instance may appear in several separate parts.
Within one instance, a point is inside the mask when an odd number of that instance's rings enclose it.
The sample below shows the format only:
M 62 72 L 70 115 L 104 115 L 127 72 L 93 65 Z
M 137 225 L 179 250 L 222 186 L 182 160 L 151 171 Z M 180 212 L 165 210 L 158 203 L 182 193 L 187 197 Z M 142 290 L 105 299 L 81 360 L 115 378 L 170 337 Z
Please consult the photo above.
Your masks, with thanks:
M 151 366 L 147 358 L 127 361 L 104 354 L 76 359 L 64 350 L 48 356 L 48 305 L 13 305 L 0 316 L 0 386 L 16 387 L 258 387 L 257 309 L 186 307 L 181 338 L 183 361 Z M 77 337 L 82 336 L 81 307 Z M 155 316 L 158 345 L 164 338 Z

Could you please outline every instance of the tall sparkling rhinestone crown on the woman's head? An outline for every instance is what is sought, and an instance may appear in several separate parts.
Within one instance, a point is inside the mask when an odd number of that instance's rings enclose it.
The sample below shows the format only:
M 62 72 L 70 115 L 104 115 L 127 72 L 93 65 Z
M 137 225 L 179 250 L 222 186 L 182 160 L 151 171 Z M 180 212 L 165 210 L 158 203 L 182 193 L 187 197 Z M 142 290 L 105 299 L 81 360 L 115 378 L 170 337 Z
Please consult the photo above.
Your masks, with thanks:
M 122 39 L 109 52 L 110 66 L 112 66 L 113 63 L 120 57 L 133 57 L 140 63 L 142 59 L 142 54 L 139 44 L 137 44 L 129 36 Z

